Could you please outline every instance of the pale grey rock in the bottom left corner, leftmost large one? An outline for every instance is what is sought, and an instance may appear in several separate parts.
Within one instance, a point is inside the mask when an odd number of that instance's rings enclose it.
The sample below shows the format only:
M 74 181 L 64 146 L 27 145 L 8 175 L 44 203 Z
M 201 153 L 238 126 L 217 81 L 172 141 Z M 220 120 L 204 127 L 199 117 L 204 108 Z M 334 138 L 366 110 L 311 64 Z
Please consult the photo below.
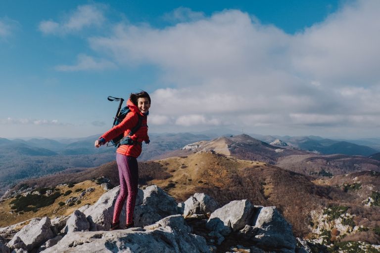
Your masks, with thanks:
M 53 236 L 53 232 L 50 229 L 50 219 L 48 217 L 33 219 L 14 235 L 12 240 L 8 242 L 8 247 L 23 248 L 30 251 Z

